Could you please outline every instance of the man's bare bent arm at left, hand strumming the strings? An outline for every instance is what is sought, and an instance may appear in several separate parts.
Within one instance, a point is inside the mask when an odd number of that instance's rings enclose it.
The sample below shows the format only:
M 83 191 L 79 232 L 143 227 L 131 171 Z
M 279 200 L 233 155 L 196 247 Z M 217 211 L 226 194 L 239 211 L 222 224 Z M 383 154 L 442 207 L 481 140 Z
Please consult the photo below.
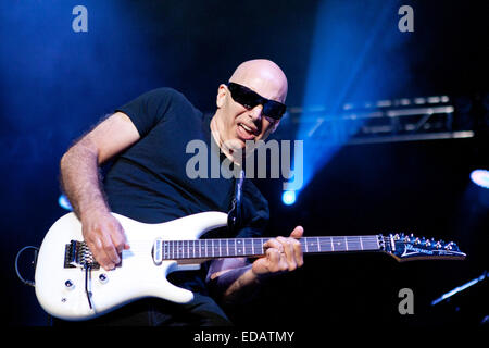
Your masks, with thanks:
M 120 263 L 120 253 L 129 246 L 121 224 L 110 213 L 99 166 L 139 138 L 130 119 L 116 112 L 78 140 L 61 159 L 63 190 L 82 222 L 85 241 L 105 270 Z

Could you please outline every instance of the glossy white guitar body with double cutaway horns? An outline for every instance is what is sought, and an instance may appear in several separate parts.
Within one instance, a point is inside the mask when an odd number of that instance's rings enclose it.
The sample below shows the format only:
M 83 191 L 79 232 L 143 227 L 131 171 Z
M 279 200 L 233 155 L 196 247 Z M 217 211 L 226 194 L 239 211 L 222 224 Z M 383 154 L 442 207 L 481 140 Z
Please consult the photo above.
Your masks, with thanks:
M 66 266 L 66 245 L 83 241 L 82 224 L 74 213 L 59 219 L 42 240 L 36 266 L 36 296 L 50 314 L 64 320 L 87 320 L 143 297 L 159 297 L 177 303 L 193 294 L 166 279 L 174 271 L 198 270 L 200 263 L 154 262 L 156 239 L 197 239 L 208 231 L 225 226 L 227 214 L 204 212 L 161 224 L 145 224 L 113 213 L 123 226 L 129 250 L 113 271 L 102 268 L 87 272 Z M 196 261 L 198 262 L 198 261 Z M 88 295 L 88 294 L 90 295 Z

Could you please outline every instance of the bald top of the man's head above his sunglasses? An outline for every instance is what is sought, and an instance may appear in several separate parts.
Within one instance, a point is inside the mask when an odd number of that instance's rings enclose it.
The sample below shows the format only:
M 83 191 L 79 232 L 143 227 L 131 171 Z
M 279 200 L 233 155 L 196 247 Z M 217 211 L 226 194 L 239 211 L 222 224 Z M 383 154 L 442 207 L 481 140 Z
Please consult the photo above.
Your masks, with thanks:
M 267 99 L 285 102 L 288 83 L 281 69 L 266 59 L 255 59 L 241 63 L 229 82 L 253 89 Z

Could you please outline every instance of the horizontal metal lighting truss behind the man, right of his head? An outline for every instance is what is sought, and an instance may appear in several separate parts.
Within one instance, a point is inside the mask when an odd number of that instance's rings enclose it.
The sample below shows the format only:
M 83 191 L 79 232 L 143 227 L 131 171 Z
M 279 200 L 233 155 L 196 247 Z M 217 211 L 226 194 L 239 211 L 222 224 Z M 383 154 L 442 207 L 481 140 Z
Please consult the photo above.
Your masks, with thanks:
M 309 124 L 308 137 L 329 144 L 359 145 L 449 138 L 472 138 L 460 127 L 456 108 L 448 96 L 400 98 L 346 103 L 339 112 L 325 108 L 290 108 L 290 126 Z

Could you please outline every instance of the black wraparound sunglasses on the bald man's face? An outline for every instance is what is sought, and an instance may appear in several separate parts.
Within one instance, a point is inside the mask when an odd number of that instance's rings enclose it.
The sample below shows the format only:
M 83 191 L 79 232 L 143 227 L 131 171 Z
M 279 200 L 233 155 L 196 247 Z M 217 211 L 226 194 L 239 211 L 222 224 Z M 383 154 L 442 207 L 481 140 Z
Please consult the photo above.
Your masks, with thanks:
M 239 84 L 229 83 L 227 85 L 231 97 L 247 109 L 253 109 L 258 104 L 263 105 L 263 114 L 274 120 L 280 120 L 286 112 L 287 107 L 281 102 L 263 98 L 255 91 Z

